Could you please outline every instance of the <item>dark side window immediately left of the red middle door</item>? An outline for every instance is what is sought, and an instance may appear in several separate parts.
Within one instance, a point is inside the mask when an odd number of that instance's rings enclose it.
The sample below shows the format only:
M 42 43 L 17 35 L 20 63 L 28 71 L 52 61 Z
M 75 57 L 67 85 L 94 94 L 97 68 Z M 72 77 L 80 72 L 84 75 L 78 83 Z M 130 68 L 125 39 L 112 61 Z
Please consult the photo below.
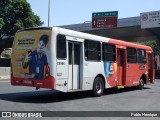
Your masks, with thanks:
M 116 61 L 116 48 L 115 45 L 102 43 L 103 60 Z

